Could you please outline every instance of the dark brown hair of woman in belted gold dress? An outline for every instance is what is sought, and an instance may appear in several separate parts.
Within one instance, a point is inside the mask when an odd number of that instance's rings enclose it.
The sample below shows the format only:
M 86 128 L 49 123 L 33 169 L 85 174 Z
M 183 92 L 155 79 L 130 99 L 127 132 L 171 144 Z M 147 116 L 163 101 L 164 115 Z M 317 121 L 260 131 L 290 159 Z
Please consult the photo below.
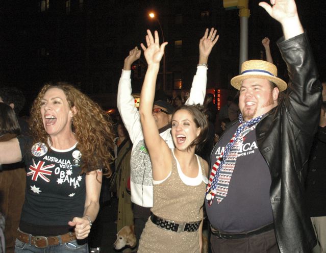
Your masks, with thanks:
M 204 147 L 208 138 L 208 121 L 206 115 L 204 114 L 204 107 L 200 106 L 199 104 L 191 106 L 183 105 L 175 110 L 175 112 L 172 114 L 172 119 L 174 114 L 179 110 L 188 111 L 192 115 L 193 121 L 195 122 L 197 128 L 200 128 L 200 133 L 197 138 L 194 139 L 187 147 L 187 150 L 189 150 L 191 147 L 196 146 L 195 151 L 198 152 Z

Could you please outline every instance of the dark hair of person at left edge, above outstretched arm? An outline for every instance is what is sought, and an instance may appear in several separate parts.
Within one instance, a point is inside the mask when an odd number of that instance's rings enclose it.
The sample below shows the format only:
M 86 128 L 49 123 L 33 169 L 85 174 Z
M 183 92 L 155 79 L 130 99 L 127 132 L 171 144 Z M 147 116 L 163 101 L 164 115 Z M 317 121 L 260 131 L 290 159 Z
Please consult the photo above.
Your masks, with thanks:
M 20 126 L 16 114 L 6 103 L 0 103 L 0 134 L 20 135 Z

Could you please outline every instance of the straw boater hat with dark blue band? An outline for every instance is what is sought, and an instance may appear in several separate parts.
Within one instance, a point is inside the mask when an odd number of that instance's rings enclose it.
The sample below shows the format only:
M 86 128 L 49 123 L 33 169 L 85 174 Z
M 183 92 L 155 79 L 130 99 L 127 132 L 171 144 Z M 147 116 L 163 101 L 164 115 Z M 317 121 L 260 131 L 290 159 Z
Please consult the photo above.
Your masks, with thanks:
M 241 82 L 247 78 L 262 78 L 267 79 L 279 87 L 280 91 L 287 88 L 286 82 L 278 78 L 277 67 L 266 61 L 250 60 L 242 63 L 241 74 L 231 79 L 231 85 L 240 90 Z

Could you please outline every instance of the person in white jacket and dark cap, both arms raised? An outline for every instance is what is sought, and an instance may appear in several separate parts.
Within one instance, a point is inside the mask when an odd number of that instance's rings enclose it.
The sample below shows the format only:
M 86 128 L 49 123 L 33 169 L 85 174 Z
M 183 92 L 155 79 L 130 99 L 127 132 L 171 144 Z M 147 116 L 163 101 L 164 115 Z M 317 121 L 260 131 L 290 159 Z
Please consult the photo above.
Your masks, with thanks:
M 206 29 L 204 36 L 199 41 L 199 61 L 194 75 L 187 105 L 203 105 L 207 84 L 207 62 L 213 46 L 218 40 L 217 31 Z M 131 200 L 134 203 L 135 234 L 137 241 L 145 226 L 153 207 L 153 175 L 152 163 L 149 158 L 142 133 L 140 116 L 134 104 L 131 88 L 131 65 L 140 58 L 141 51 L 137 47 L 132 49 L 124 60 L 121 78 L 118 85 L 117 108 L 124 126 L 133 143 L 131 154 Z M 170 148 L 174 147 L 171 137 L 172 109 L 165 101 L 155 101 L 153 115 L 161 137 Z

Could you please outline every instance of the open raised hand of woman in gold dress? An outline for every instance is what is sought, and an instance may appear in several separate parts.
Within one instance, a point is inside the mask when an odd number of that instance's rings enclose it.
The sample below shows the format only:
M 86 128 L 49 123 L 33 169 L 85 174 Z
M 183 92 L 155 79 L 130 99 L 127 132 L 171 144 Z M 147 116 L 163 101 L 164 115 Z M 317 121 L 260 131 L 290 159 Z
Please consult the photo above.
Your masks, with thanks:
M 163 42 L 160 46 L 159 34 L 157 31 L 154 32 L 155 39 L 151 31 L 147 30 L 146 43 L 147 48 L 141 43 L 141 48 L 144 50 L 144 56 L 148 66 L 160 64 L 160 61 L 164 55 L 164 48 L 167 42 Z

